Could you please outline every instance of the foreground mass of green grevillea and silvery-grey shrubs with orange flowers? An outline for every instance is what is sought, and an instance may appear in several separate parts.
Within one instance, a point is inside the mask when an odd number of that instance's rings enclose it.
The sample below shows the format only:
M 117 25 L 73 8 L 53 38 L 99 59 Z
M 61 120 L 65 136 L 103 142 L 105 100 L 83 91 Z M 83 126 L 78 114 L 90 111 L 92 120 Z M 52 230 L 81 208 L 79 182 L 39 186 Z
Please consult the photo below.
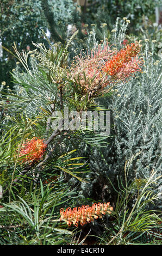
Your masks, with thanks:
M 28 52 L 3 46 L 17 66 L 14 88 L 1 86 L 2 245 L 82 245 L 88 232 L 97 245 L 160 244 L 161 65 L 154 42 L 126 39 L 129 22 L 101 42 L 94 26 L 74 59 L 78 31 L 66 44 L 42 31 L 48 47 Z M 65 129 L 65 108 L 72 124 L 111 109 L 110 136 Z

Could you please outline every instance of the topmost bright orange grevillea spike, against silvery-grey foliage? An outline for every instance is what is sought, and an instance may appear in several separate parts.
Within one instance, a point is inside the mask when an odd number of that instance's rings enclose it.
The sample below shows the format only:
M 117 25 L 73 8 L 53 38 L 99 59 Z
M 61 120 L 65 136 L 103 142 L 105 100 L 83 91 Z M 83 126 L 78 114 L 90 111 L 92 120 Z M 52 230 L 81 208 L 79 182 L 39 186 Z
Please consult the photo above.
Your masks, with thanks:
M 124 69 L 126 68 L 127 70 L 128 66 L 130 74 L 136 71 L 140 71 L 139 65 L 141 65 L 142 62 L 139 61 L 137 58 L 135 58 L 135 62 L 133 62 L 133 58 L 136 57 L 139 52 L 139 44 L 132 43 L 130 45 L 127 45 L 124 49 L 121 49 L 115 56 L 113 56 L 111 60 L 106 62 L 102 70 L 110 76 L 115 76 L 121 71 L 122 73 L 125 73 Z M 133 63 L 133 65 L 130 65 L 130 63 Z

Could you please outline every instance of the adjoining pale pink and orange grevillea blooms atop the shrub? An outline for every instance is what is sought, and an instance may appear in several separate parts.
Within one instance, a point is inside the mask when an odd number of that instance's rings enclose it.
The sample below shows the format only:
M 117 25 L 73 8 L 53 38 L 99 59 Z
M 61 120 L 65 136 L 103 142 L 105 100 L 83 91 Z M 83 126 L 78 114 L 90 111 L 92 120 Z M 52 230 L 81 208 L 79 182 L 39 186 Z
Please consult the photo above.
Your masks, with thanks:
M 102 42 L 90 54 L 76 56 L 69 76 L 74 85 L 81 87 L 82 95 L 88 93 L 90 98 L 103 91 L 109 92 L 114 83 L 127 81 L 127 77 L 141 71 L 143 60 L 137 56 L 139 43 L 125 45 L 119 52 L 111 48 L 108 42 Z

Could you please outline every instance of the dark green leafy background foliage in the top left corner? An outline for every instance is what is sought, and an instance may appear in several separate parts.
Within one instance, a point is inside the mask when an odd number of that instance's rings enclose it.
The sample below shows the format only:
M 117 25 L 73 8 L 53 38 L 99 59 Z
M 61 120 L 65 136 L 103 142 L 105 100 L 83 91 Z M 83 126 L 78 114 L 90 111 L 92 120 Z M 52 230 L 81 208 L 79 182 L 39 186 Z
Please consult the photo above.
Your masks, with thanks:
M 13 51 L 12 45 L 20 51 L 33 48 L 32 41 L 42 42 L 41 28 L 46 31 L 40 0 L 2 0 L 0 5 L 0 38 L 2 45 Z M 3 50 L 0 60 L 0 83 L 5 81 L 11 87 L 10 72 L 15 69 L 16 59 Z

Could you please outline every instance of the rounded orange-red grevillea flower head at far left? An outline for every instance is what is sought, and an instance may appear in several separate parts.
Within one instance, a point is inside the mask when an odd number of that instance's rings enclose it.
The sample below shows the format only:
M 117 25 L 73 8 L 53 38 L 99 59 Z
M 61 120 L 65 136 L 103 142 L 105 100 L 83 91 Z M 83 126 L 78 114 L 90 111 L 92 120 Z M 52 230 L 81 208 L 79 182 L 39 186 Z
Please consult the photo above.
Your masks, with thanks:
M 46 144 L 43 143 L 43 139 L 35 137 L 30 140 L 27 139 L 21 146 L 19 157 L 21 157 L 22 162 L 28 162 L 30 164 L 38 162 L 46 147 Z

